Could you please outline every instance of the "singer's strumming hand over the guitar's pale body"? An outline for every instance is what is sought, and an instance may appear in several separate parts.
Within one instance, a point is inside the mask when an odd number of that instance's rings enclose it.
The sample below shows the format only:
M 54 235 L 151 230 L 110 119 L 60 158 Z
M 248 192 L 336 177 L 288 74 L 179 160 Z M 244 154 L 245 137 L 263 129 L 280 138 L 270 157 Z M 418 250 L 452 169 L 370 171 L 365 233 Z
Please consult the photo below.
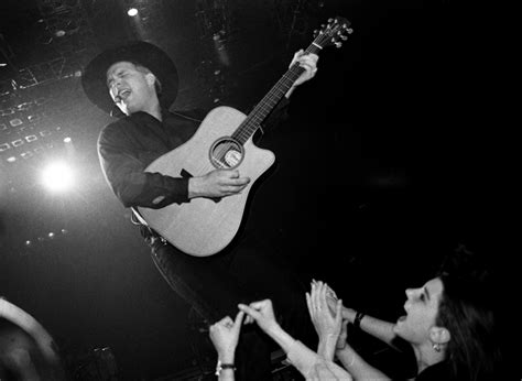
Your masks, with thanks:
M 236 195 L 247 187 L 249 177 L 240 177 L 237 170 L 215 170 L 188 179 L 188 198 L 219 198 Z

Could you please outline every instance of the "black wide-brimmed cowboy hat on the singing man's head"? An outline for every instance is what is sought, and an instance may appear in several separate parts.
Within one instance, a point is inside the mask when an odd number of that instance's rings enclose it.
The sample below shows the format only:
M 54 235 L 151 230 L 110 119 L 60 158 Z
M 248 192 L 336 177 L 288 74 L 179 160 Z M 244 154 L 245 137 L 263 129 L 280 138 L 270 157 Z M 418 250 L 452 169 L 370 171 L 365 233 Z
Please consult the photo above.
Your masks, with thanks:
M 111 47 L 98 54 L 87 64 L 81 75 L 81 86 L 93 104 L 112 115 L 116 105 L 107 87 L 107 69 L 112 64 L 122 61 L 140 64 L 150 69 L 161 84 L 161 106 L 171 107 L 177 95 L 176 66 L 160 47 L 144 41 L 133 41 Z

